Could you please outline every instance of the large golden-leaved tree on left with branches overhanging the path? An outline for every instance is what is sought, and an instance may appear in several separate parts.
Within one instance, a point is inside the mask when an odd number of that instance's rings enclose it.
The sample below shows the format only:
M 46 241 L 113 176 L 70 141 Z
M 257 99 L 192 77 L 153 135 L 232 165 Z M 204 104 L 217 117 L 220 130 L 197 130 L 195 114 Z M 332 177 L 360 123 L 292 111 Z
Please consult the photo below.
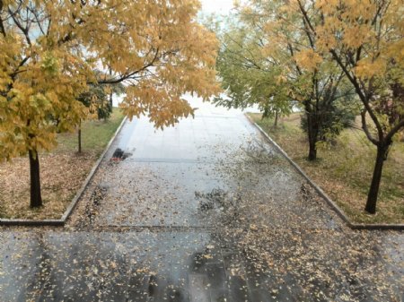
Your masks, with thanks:
M 29 154 L 31 207 L 42 204 L 38 152 L 86 115 L 77 97 L 89 85 L 124 82 L 126 114 L 146 114 L 159 127 L 193 114 L 183 93 L 207 99 L 218 91 L 217 41 L 196 22 L 199 6 L 0 0 L 0 160 Z

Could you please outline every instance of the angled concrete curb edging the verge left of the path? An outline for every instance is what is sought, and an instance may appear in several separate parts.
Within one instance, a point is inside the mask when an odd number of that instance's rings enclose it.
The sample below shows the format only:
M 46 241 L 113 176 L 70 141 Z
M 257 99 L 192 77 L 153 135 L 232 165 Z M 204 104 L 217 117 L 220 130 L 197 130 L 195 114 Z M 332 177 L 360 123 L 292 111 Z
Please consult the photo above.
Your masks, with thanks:
M 127 116 L 125 116 L 122 119 L 122 122 L 120 123 L 117 131 L 115 134 L 112 135 L 110 142 L 108 142 L 107 146 L 105 147 L 105 150 L 102 152 L 100 158 L 95 162 L 94 166 L 92 166 L 92 169 L 88 176 L 85 178 L 83 182 L 83 186 L 78 190 L 77 194 L 75 194 L 75 198 L 73 198 L 72 202 L 69 204 L 67 207 L 65 213 L 62 215 L 62 218 L 60 220 L 2 220 L 0 219 L 0 226 L 31 226 L 31 227 L 44 227 L 44 226 L 54 226 L 54 227 L 61 227 L 64 226 L 66 223 L 66 220 L 69 218 L 69 216 L 72 214 L 72 212 L 75 210 L 75 206 L 77 205 L 78 201 L 82 197 L 85 189 L 87 186 L 90 184 L 92 181 L 92 177 L 94 177 L 95 172 L 97 172 L 98 168 L 100 168 L 102 160 L 104 160 L 105 155 L 107 154 L 107 151 L 110 149 L 110 146 L 112 145 L 112 142 L 114 142 L 115 138 L 118 136 L 120 130 L 122 129 L 123 125 L 127 121 Z

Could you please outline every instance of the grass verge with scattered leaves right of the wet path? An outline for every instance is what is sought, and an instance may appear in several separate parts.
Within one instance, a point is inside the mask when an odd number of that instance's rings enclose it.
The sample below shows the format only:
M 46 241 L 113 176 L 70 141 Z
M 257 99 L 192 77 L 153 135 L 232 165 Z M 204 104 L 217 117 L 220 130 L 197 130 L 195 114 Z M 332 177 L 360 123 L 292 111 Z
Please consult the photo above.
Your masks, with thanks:
M 375 147 L 361 130 L 346 129 L 336 145 L 319 146 L 318 160 L 309 162 L 306 135 L 300 114 L 283 118 L 273 127 L 271 119 L 250 114 L 312 179 L 358 223 L 404 223 L 404 142 L 394 142 L 385 161 L 376 215 L 364 211 L 373 174 Z

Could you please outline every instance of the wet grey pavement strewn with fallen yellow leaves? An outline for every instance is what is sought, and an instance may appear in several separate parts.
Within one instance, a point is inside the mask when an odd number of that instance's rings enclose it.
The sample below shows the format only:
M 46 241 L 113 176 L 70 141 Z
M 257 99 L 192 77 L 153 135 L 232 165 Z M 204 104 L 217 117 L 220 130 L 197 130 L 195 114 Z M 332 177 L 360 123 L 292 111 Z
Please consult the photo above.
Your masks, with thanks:
M 66 228 L 0 229 L 0 302 L 403 301 L 402 232 L 347 229 L 240 111 L 192 105 L 127 122 Z

